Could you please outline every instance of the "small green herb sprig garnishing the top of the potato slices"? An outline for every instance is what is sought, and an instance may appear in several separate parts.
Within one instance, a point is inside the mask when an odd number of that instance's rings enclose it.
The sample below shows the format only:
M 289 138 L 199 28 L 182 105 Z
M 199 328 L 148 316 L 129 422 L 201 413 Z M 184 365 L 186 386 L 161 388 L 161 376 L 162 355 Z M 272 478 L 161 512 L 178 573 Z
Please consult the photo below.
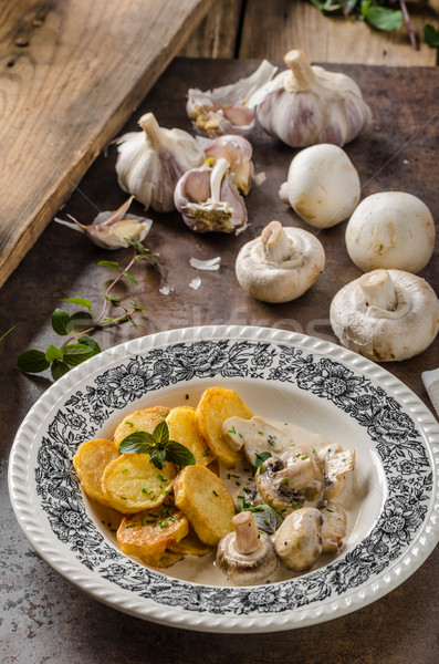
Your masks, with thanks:
M 118 450 L 122 454 L 148 454 L 149 463 L 159 470 L 166 461 L 176 466 L 195 465 L 195 457 L 185 445 L 169 440 L 169 428 L 165 419 L 157 424 L 151 434 L 148 432 L 129 434 L 122 440 Z

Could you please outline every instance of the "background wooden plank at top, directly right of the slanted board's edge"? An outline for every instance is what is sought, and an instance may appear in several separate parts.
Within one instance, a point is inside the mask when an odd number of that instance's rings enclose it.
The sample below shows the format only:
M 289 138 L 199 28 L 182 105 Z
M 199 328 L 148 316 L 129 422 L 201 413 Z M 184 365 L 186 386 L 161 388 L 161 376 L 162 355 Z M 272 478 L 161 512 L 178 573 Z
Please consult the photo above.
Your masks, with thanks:
M 234 58 L 243 0 L 219 0 L 192 33 L 179 55 Z

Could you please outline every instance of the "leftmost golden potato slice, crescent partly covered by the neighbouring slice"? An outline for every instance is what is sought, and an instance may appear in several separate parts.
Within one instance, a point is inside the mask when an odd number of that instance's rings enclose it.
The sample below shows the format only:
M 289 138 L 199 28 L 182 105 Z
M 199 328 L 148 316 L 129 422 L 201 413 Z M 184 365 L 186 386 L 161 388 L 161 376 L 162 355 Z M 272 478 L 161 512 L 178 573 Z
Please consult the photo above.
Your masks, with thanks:
M 111 506 L 102 488 L 102 478 L 106 466 L 118 456 L 121 454 L 113 440 L 95 438 L 82 443 L 73 457 L 73 466 L 85 494 L 106 507 Z

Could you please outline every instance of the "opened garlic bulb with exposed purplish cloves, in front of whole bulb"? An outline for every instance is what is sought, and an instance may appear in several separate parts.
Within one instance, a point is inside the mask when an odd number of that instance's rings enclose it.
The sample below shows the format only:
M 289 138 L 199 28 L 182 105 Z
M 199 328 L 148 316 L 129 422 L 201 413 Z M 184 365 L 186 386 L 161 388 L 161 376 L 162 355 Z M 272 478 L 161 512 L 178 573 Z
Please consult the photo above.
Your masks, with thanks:
M 178 180 L 175 204 L 185 224 L 196 232 L 234 232 L 247 228 L 247 209 L 232 181 L 227 159 L 208 162 Z

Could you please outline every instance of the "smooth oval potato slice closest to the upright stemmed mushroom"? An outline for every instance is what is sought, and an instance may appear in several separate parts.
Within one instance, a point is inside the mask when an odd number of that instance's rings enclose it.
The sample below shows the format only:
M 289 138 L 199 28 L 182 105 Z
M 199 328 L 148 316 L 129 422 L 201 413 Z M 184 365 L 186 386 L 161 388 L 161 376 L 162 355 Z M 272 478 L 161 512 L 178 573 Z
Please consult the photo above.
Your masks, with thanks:
M 215 546 L 233 530 L 234 502 L 224 485 L 206 466 L 186 466 L 174 485 L 176 506 L 205 544 Z

